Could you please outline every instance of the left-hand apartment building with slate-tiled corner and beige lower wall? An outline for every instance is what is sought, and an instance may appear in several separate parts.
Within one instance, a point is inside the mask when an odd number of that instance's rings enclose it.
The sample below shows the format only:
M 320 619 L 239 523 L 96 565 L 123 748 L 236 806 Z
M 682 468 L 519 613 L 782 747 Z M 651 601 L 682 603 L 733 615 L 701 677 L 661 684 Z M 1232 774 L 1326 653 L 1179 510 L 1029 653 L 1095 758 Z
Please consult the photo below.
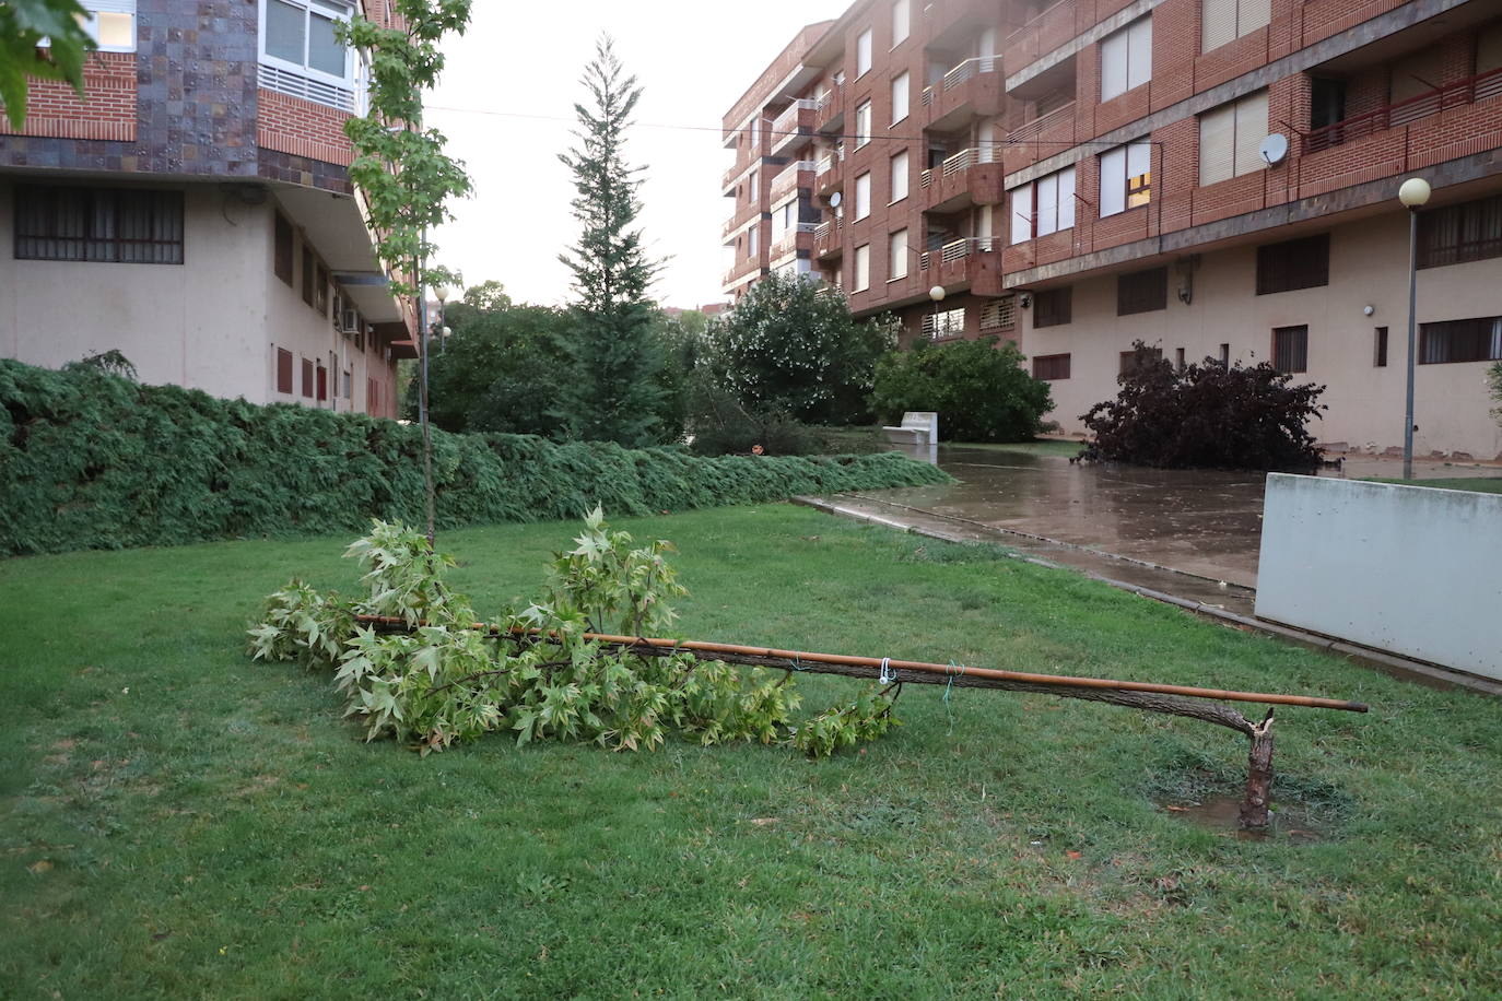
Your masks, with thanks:
M 83 6 L 84 96 L 33 83 L 0 123 L 0 351 L 395 417 L 416 321 L 350 185 L 363 69 L 335 38 L 389 0 Z

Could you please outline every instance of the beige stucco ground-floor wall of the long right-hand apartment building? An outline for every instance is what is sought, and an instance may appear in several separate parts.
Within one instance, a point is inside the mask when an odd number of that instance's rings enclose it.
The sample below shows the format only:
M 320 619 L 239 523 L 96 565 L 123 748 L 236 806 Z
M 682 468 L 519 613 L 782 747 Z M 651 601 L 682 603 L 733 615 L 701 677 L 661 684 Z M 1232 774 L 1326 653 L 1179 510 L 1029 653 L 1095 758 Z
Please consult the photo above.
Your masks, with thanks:
M 1080 414 L 1116 395 L 1119 353 L 1143 339 L 1173 360 L 1269 359 L 1272 329 L 1308 324 L 1308 371 L 1298 381 L 1328 386 L 1329 407 L 1311 434 L 1322 443 L 1386 450 L 1403 444 L 1407 336 L 1407 218 L 1386 213 L 1331 230 L 1329 285 L 1272 296 L 1256 294 L 1256 246 L 1205 254 L 1185 306 L 1175 291 L 1181 272 L 1169 266 L 1169 308 L 1116 315 L 1116 276 L 1074 285 L 1072 323 L 1032 329 L 1024 311 L 1023 351 L 1071 354 L 1071 378 L 1051 383 L 1051 420 L 1083 432 Z M 1362 314 L 1373 306 L 1373 315 Z M 1502 264 L 1496 260 L 1425 269 L 1418 275 L 1418 321 L 1502 315 Z M 1388 365 L 1373 365 L 1374 327 L 1388 327 Z M 1485 371 L 1490 362 L 1419 365 L 1415 380 L 1413 447 L 1418 455 L 1463 453 L 1502 458 L 1502 428 L 1490 416 Z

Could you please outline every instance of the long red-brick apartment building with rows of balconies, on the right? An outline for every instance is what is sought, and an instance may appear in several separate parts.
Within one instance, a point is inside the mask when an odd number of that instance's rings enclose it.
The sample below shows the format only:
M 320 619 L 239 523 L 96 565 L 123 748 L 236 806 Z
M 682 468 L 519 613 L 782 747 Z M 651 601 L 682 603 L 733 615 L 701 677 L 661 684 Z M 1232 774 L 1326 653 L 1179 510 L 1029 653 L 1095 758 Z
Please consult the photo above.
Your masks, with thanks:
M 1415 449 L 1502 456 L 1494 2 L 870 0 L 799 66 L 796 93 L 751 95 L 775 168 L 813 161 L 808 270 L 909 341 L 1015 341 L 1065 431 L 1142 339 L 1176 363 L 1271 360 L 1328 386 L 1322 441 L 1400 447 L 1397 188 L 1428 180 Z

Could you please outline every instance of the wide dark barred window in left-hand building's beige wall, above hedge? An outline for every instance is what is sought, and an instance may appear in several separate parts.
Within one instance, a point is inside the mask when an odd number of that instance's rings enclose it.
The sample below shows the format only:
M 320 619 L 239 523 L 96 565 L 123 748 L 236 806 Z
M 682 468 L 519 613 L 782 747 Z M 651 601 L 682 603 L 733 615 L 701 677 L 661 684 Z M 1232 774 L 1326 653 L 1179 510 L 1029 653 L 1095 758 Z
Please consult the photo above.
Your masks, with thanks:
M 183 263 L 183 194 L 17 185 L 21 261 Z

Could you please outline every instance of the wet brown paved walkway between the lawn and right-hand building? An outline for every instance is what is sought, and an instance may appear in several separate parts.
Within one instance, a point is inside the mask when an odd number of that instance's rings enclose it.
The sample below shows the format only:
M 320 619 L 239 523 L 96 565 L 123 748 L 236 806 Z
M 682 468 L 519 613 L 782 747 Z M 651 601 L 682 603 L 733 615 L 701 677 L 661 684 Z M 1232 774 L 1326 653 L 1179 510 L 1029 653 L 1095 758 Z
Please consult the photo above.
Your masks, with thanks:
M 1072 465 L 1063 455 L 1005 447 L 939 446 L 934 452 L 925 458 L 957 483 L 823 500 L 904 524 L 946 525 L 961 537 L 1023 546 L 1099 576 L 1250 614 L 1265 474 Z M 1343 470 L 1322 474 L 1395 477 L 1401 464 L 1352 456 Z M 1415 462 L 1421 479 L 1499 474 L 1494 465 Z M 1172 581 L 1164 572 L 1200 581 Z

